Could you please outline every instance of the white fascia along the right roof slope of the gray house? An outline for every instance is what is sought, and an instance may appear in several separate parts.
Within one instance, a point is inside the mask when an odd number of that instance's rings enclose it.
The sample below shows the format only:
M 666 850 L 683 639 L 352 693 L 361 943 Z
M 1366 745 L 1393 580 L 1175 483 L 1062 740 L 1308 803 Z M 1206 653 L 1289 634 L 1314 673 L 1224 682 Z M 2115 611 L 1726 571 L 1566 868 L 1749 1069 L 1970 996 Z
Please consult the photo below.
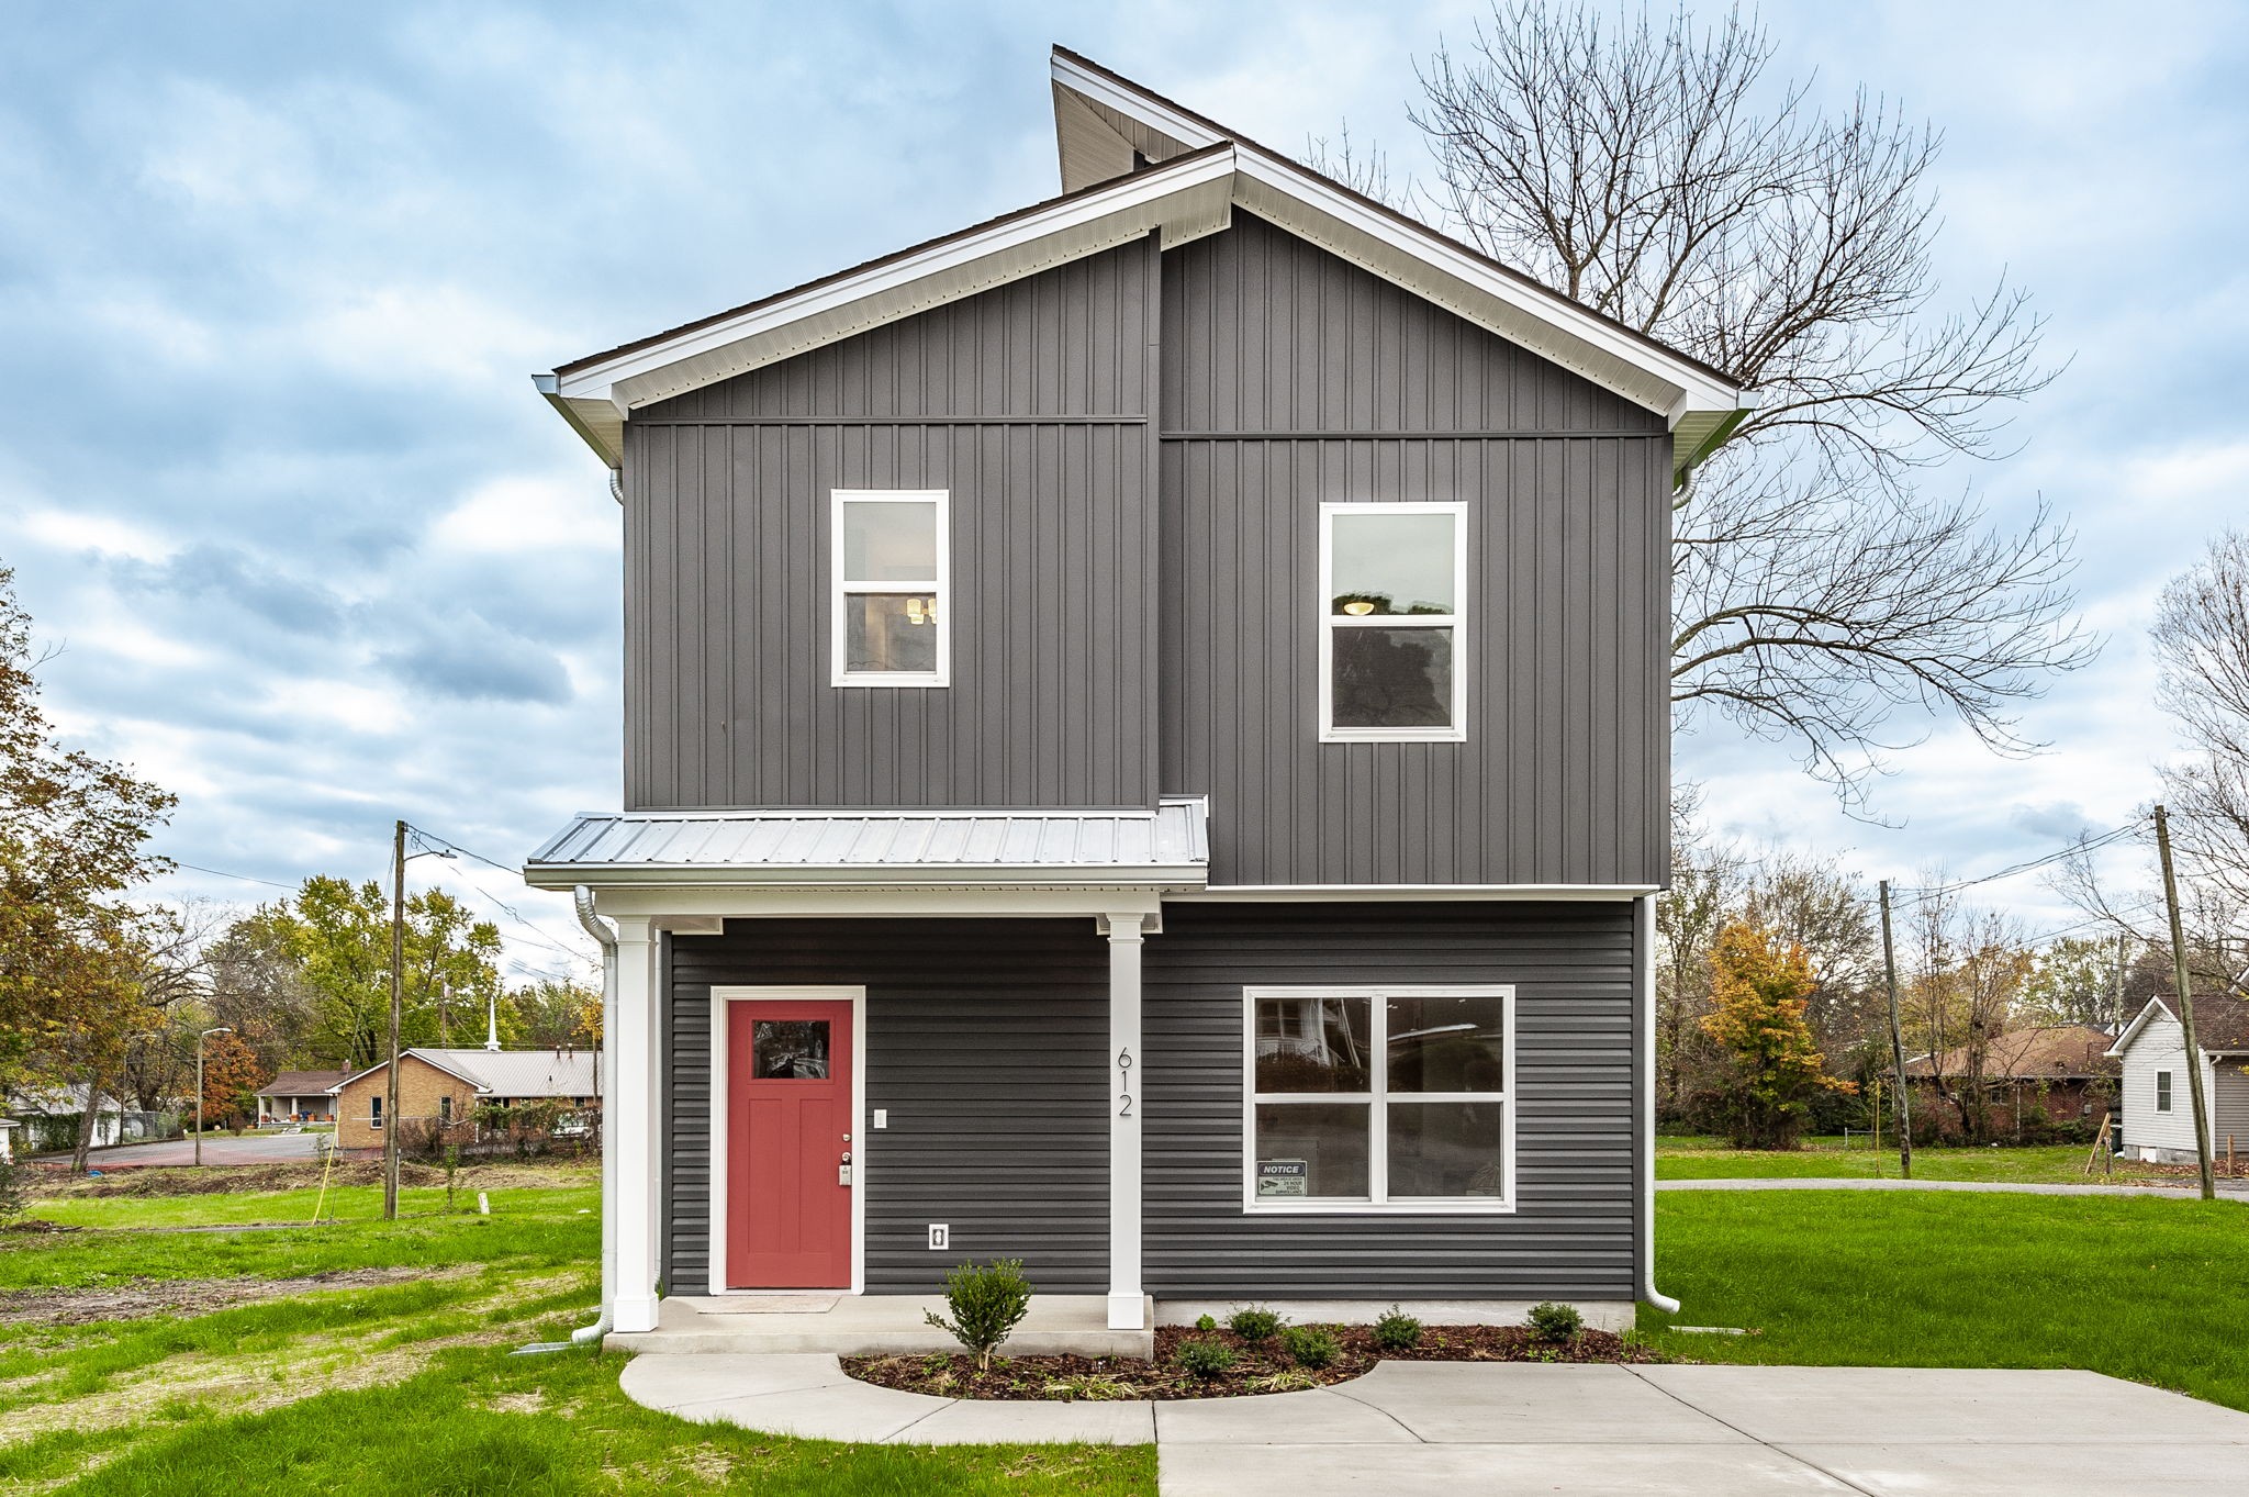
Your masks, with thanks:
M 1250 151 L 1246 146 L 1235 148 L 1235 160 L 1239 164 L 1239 175 L 1246 178 L 1248 182 L 1255 182 L 1257 187 L 1264 187 L 1284 198 L 1293 198 L 1316 209 L 1318 214 L 1336 220 L 1345 229 L 1352 229 L 1365 238 L 1372 238 L 1381 245 L 1397 250 L 1399 254 L 1421 261 L 1444 272 L 1446 276 L 1460 281 L 1462 285 L 1469 285 L 1534 321 L 1550 324 L 1561 335 L 1579 344 L 1586 344 L 1588 348 L 1595 348 L 1622 364 L 1628 364 L 1631 369 L 1637 369 L 1640 373 L 1653 380 L 1660 380 L 1664 387 L 1669 387 L 1662 400 L 1651 400 L 1649 391 L 1619 389 L 1617 393 L 1662 414 L 1664 420 L 1671 425 L 1678 425 L 1680 418 L 1691 411 L 1732 414 L 1741 409 L 1752 409 L 1754 405 L 1754 400 L 1743 389 L 1727 384 L 1723 380 L 1714 380 L 1702 369 L 1696 369 L 1685 360 L 1676 360 L 1667 355 L 1662 348 L 1644 344 L 1642 339 L 1628 335 L 1624 328 L 1617 328 L 1615 324 L 1595 317 L 1592 312 L 1570 301 L 1568 297 L 1561 297 L 1556 292 L 1534 290 L 1527 283 L 1493 270 L 1491 265 L 1469 254 L 1460 245 L 1453 245 L 1444 236 L 1401 223 L 1390 214 L 1383 214 L 1352 198 L 1349 193 L 1338 191 L 1329 182 L 1322 182 L 1318 175 L 1295 166 L 1293 162 L 1284 162 L 1280 157 L 1266 155 L 1262 151 Z M 1253 211 L 1257 209 L 1255 196 L 1244 196 L 1239 187 L 1235 189 L 1235 202 Z M 1334 250 L 1336 245 L 1327 247 Z M 1349 256 L 1349 258 L 1356 261 L 1361 256 Z M 1363 267 L 1374 274 L 1383 274 L 1379 265 L 1363 265 Z M 1385 274 L 1383 279 L 1394 281 L 1397 276 Z M 1408 290 L 1426 294 L 1426 290 L 1421 288 L 1408 288 Z M 1473 312 L 1464 308 L 1453 308 L 1453 310 L 1460 310 L 1462 315 L 1471 317 L 1471 321 L 1482 321 L 1475 319 Z M 1507 330 L 1507 337 L 1520 339 L 1520 330 Z M 1570 364 L 1579 369 L 1579 373 L 1592 378 L 1595 382 L 1615 389 L 1613 378 L 1604 380 L 1599 371 L 1583 369 L 1565 353 L 1552 348 L 1534 348 L 1534 353 L 1552 357 L 1559 364 Z

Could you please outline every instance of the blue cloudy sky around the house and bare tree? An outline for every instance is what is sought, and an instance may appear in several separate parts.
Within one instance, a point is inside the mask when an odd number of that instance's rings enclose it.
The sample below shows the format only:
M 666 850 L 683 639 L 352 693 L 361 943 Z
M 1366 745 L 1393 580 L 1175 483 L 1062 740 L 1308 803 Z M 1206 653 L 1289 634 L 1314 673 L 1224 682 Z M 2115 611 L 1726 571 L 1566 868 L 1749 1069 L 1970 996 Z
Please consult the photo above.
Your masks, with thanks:
M 376 877 L 389 823 L 517 861 L 618 796 L 616 508 L 529 375 L 1055 191 L 1062 40 L 1399 166 L 1473 2 L 29 7 L 0 52 L 0 564 L 67 733 L 180 793 L 166 895 Z M 2155 589 L 2249 519 L 2249 7 L 1768 4 L 1779 67 L 1948 135 L 1941 267 L 2038 294 L 2069 371 L 1945 481 L 2071 515 L 2101 661 L 1995 760 L 1939 726 L 1840 814 L 1680 744 L 1714 820 L 1975 874 L 2130 816 Z M 1968 16 L 1963 20 L 1963 13 Z M 2098 40 L 2094 40 L 2098 38 Z M 520 971 L 582 946 L 477 863 Z M 232 874 L 232 877 L 223 877 Z M 2069 913 L 1995 886 L 2033 926 Z

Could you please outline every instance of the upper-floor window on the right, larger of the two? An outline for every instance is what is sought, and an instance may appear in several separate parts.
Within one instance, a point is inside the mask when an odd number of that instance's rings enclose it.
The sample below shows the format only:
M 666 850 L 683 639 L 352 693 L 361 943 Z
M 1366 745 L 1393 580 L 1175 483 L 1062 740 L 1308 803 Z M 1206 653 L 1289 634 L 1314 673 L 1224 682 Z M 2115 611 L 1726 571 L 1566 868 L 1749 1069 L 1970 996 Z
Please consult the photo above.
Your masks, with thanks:
M 1469 506 L 1320 506 L 1320 740 L 1469 737 Z

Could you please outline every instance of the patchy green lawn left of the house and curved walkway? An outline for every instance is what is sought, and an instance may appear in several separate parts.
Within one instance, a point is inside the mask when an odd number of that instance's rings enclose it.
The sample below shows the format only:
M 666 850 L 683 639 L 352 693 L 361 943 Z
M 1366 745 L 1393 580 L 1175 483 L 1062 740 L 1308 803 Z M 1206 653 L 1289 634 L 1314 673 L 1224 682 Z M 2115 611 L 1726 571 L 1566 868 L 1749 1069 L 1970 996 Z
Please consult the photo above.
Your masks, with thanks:
M 652 1414 L 618 1391 L 621 1355 L 508 1355 L 587 1319 L 596 1189 L 499 1189 L 490 1216 L 472 1191 L 457 1214 L 407 1191 L 421 1214 L 398 1223 L 373 1221 L 380 1189 L 335 1196 L 344 1221 L 322 1227 L 146 1230 L 310 1216 L 308 1191 L 268 1191 L 47 1200 L 40 1216 L 103 1230 L 0 1234 L 0 1290 L 409 1270 L 205 1313 L 0 1322 L 0 1493 L 1156 1490 L 1145 1448 L 859 1448 Z

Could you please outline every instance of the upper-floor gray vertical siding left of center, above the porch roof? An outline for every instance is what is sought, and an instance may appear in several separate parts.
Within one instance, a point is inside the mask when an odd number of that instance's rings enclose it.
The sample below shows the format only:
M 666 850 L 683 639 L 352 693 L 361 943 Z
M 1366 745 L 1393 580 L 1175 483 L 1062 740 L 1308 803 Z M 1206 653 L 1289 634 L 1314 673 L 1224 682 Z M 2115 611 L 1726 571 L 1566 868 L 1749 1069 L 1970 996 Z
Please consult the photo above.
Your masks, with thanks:
M 625 809 L 1156 802 L 1156 241 L 625 427 Z M 951 490 L 951 686 L 830 686 L 830 490 Z

